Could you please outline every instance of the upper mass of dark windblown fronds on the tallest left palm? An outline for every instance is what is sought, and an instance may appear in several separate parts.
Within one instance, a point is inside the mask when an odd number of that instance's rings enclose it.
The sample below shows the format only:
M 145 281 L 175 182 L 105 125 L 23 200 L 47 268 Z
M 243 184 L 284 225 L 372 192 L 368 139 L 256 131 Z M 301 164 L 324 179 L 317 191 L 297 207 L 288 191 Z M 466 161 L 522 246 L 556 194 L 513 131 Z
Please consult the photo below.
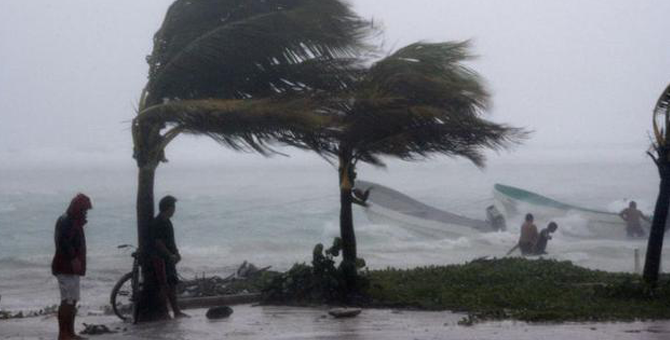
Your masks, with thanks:
M 372 31 L 339 0 L 178 0 L 147 59 L 147 105 L 338 89 Z

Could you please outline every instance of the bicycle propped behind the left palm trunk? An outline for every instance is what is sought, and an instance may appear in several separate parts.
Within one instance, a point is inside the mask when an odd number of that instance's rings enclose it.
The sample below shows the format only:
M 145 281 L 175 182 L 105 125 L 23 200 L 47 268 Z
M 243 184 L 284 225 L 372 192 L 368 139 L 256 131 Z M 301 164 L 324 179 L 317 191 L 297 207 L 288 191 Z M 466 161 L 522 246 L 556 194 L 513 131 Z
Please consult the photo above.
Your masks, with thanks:
M 137 300 L 139 299 L 141 289 L 140 260 L 137 248 L 130 244 L 122 244 L 117 248 L 133 248 L 135 251 L 131 254 L 133 257 L 133 269 L 129 273 L 121 276 L 112 288 L 112 294 L 109 302 L 112 304 L 114 314 L 123 321 L 137 320 Z

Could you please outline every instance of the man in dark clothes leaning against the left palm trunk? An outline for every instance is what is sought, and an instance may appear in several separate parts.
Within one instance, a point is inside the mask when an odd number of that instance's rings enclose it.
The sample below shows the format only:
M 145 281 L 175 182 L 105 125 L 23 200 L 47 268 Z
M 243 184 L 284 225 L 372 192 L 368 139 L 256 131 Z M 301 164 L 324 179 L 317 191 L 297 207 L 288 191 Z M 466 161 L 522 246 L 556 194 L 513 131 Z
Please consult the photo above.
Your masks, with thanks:
M 154 274 L 160 287 L 160 294 L 172 306 L 175 318 L 188 317 L 182 313 L 177 304 L 177 262 L 181 255 L 174 241 L 174 228 L 170 218 L 175 213 L 177 199 L 172 196 L 163 197 L 158 203 L 158 215 L 154 218 L 149 229 L 147 253 L 153 265 Z

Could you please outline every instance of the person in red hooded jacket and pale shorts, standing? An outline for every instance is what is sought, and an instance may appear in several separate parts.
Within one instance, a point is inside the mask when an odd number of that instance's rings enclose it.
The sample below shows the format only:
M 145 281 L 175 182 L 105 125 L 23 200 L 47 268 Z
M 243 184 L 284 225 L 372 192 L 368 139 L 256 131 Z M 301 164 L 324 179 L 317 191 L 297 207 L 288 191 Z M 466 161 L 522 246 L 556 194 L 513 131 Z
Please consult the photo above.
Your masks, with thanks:
M 74 318 L 79 301 L 79 278 L 86 275 L 86 213 L 92 209 L 91 200 L 77 194 L 67 212 L 58 218 L 54 232 L 56 254 L 51 273 L 58 279 L 61 302 L 58 307 L 58 339 L 81 339 L 74 331 Z

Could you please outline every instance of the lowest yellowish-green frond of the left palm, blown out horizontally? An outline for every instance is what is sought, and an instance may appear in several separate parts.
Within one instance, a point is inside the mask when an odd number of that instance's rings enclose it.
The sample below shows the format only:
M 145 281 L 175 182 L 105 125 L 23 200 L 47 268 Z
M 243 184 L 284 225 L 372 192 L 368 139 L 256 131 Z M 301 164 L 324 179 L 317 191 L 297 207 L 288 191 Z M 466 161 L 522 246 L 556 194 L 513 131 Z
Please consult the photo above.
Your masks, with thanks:
M 145 126 L 173 126 L 186 134 L 206 135 L 234 150 L 268 155 L 273 142 L 318 149 L 318 132 L 329 118 L 314 114 L 321 102 L 299 99 L 203 99 L 169 102 L 139 113 Z M 312 145 L 311 143 L 314 143 Z

